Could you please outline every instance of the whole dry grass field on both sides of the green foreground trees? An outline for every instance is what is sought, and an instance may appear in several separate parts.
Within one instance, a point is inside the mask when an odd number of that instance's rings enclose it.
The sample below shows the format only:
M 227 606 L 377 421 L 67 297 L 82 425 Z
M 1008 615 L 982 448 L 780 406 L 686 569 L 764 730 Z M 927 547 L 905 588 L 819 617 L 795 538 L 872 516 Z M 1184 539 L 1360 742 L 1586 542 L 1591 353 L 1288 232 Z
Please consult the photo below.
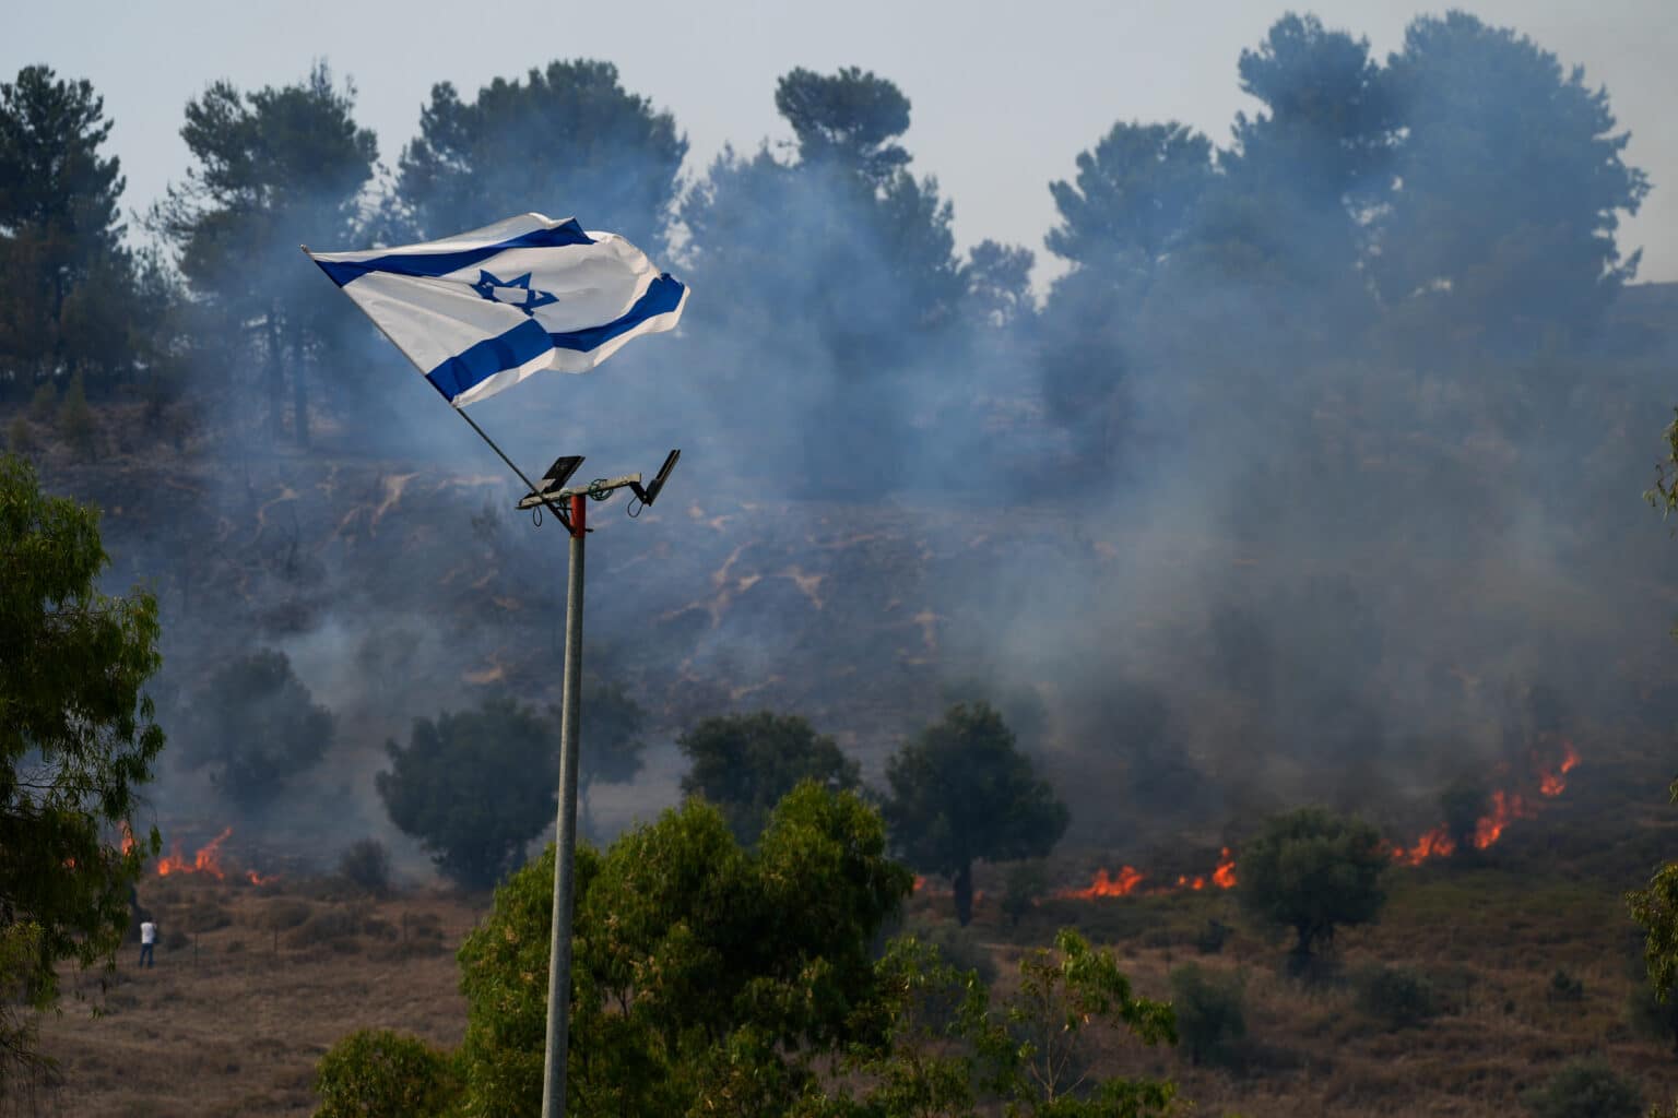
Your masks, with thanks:
M 998 910 L 992 868 L 970 929 L 955 927 L 935 890 L 909 900 L 903 927 L 988 957 L 1003 989 L 1020 950 L 1059 927 L 1109 945 L 1149 996 L 1168 996 L 1171 969 L 1186 962 L 1238 972 L 1247 1038 L 1227 1066 L 1131 1044 L 1101 1056 L 1107 1073 L 1176 1078 L 1198 1115 L 1520 1115 L 1525 1090 L 1587 1054 L 1634 1078 L 1648 1103 L 1670 1103 L 1673 1039 L 1634 1027 L 1628 1012 L 1643 979 L 1623 902 L 1658 858 L 1678 853 L 1665 773 L 1660 748 L 1597 758 L 1564 800 L 1485 855 L 1394 870 L 1379 924 L 1342 930 L 1327 972 L 1309 984 L 1285 974 L 1287 944 L 1210 888 L 1050 898 L 1015 927 Z M 1050 870 L 1069 878 L 1101 860 L 1064 851 Z M 148 878 L 139 902 L 164 932 L 158 965 L 138 970 L 128 945 L 102 999 L 92 976 L 70 976 L 67 989 L 86 1001 L 67 997 L 44 1022 L 42 1046 L 64 1073 L 49 1100 L 57 1113 L 310 1113 L 314 1064 L 346 1033 L 461 1038 L 455 949 L 487 897 L 367 900 L 305 877 L 258 887 L 171 875 Z M 1212 920 L 1232 930 L 1205 952 Z M 1399 1029 L 1373 1017 L 1358 999 L 1371 967 L 1426 981 L 1438 1016 Z

